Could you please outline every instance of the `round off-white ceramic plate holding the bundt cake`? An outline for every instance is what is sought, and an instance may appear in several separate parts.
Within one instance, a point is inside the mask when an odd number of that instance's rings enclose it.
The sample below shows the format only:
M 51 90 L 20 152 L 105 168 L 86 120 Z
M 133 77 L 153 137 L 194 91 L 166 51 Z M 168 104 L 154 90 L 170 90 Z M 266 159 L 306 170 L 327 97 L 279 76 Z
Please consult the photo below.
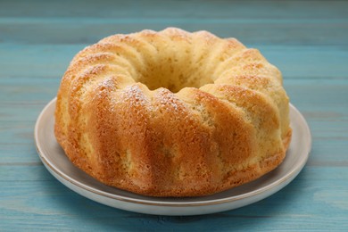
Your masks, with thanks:
M 37 152 L 55 178 L 71 190 L 98 203 L 126 211 L 158 215 L 197 215 L 228 211 L 255 203 L 290 183 L 302 170 L 311 151 L 311 131 L 302 114 L 290 105 L 293 138 L 286 159 L 265 176 L 243 186 L 216 195 L 187 198 L 162 198 L 136 195 L 104 184 L 76 168 L 54 137 L 56 99 L 46 105 L 37 118 L 35 140 Z

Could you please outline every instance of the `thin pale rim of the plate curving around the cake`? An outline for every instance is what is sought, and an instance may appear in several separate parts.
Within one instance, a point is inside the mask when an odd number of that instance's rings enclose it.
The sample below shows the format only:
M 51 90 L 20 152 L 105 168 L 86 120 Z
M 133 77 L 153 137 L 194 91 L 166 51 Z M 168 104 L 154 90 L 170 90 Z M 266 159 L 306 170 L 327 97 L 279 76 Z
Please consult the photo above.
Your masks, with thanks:
M 284 177 L 277 179 L 276 181 L 270 183 L 269 185 L 262 186 L 261 188 L 255 189 L 251 192 L 244 193 L 241 195 L 232 195 L 232 196 L 223 197 L 220 199 L 203 200 L 203 201 L 196 201 L 196 202 L 185 202 L 185 203 L 183 203 L 183 202 L 161 202 L 161 200 L 156 202 L 153 200 L 136 199 L 136 198 L 132 198 L 132 197 L 128 197 L 128 196 L 114 195 L 111 193 L 104 192 L 103 190 L 100 190 L 100 189 L 95 189 L 93 186 L 87 186 L 83 183 L 80 183 L 78 180 L 71 178 L 67 174 L 63 173 L 62 170 L 57 169 L 57 167 L 54 166 L 54 163 L 52 163 L 49 159 L 46 158 L 45 153 L 42 151 L 41 145 L 39 143 L 39 138 L 38 138 L 39 126 L 40 126 L 40 123 L 42 123 L 42 120 L 43 120 L 44 116 L 46 115 L 48 109 L 50 107 L 52 107 L 52 104 L 55 104 L 55 102 L 56 102 L 56 97 L 54 97 L 54 99 L 52 99 L 50 102 L 48 102 L 48 104 L 46 104 L 46 106 L 43 108 L 43 110 L 39 113 L 39 115 L 37 117 L 36 124 L 35 124 L 35 128 L 34 128 L 35 145 L 36 145 L 37 153 L 38 153 L 38 156 L 39 156 L 41 162 L 43 162 L 45 164 L 46 169 L 48 169 L 51 172 L 51 174 L 54 176 L 54 178 L 57 178 L 54 175 L 54 173 L 55 173 L 60 178 L 63 178 L 65 181 L 68 181 L 73 186 L 77 186 L 77 187 L 81 188 L 81 190 L 91 192 L 92 194 L 106 197 L 106 198 L 109 198 L 112 200 L 117 200 L 117 201 L 126 202 L 126 203 L 136 203 L 136 204 L 151 205 L 151 206 L 165 206 L 165 207 L 176 207 L 177 208 L 177 207 L 208 206 L 208 205 L 216 205 L 216 204 L 222 204 L 222 203 L 233 203 L 233 202 L 245 200 L 248 198 L 253 199 L 257 195 L 262 195 L 262 194 L 268 193 L 270 190 L 276 188 L 277 186 L 281 185 L 282 183 L 284 183 L 286 181 L 290 182 L 292 179 L 294 179 L 300 173 L 300 171 L 302 170 L 302 168 L 304 167 L 304 165 L 308 161 L 309 155 L 311 153 L 311 144 L 312 144 L 311 129 L 310 129 L 307 121 L 303 117 L 302 113 L 299 110 L 297 110 L 293 104 L 289 104 L 290 112 L 294 111 L 294 113 L 296 113 L 296 116 L 299 117 L 299 119 L 302 121 L 302 124 L 304 126 L 303 129 L 308 133 L 308 137 L 307 137 L 308 146 L 306 147 L 306 149 L 308 151 L 303 152 L 303 153 L 305 153 L 305 157 L 302 158 L 301 162 L 298 165 L 296 165 L 294 169 L 287 172 Z M 54 173 L 52 173 L 52 171 Z M 57 178 L 57 179 L 60 182 L 62 182 L 61 179 L 59 179 L 59 178 Z M 62 183 L 62 184 L 64 186 L 67 186 L 66 183 Z M 77 192 L 76 190 L 72 189 L 70 186 L 68 186 L 68 187 L 71 190 Z M 284 186 L 280 187 L 278 190 L 280 190 L 283 187 Z M 277 191 L 275 191 L 275 192 L 277 192 Z M 79 193 L 79 192 L 77 192 L 77 193 Z M 274 193 L 272 193 L 272 194 L 274 194 Z M 272 195 L 272 194 L 269 194 L 269 195 Z M 82 194 L 79 193 L 79 195 L 82 195 Z M 264 199 L 264 198 L 268 197 L 269 195 L 266 195 L 261 199 Z M 84 195 L 84 196 L 87 197 L 86 195 Z M 90 197 L 87 197 L 87 198 L 96 201 L 93 198 L 90 198 Z M 195 198 L 195 197 L 193 197 L 193 198 Z M 161 199 L 161 198 L 159 198 L 159 199 Z M 97 201 L 97 202 L 99 202 L 99 201 Z M 104 204 L 107 204 L 107 203 L 104 203 Z M 107 204 L 107 205 L 109 205 L 109 204 Z

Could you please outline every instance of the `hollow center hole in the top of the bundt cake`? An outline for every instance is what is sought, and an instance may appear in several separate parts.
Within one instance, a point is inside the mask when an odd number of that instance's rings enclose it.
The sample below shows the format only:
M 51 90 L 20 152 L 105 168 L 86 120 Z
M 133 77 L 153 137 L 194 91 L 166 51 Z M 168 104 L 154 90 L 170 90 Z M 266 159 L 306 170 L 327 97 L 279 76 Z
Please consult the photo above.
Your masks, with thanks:
M 173 93 L 184 87 L 198 88 L 213 83 L 211 76 L 201 68 L 201 63 L 171 57 L 162 59 L 159 63 L 148 63 L 137 81 L 150 90 L 165 87 Z

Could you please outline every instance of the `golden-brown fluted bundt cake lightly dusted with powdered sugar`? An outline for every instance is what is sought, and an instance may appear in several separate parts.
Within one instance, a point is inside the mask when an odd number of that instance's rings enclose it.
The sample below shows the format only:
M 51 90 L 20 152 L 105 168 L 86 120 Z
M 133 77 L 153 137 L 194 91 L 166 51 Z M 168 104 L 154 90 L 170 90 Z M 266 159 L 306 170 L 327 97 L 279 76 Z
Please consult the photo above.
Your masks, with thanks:
M 280 71 L 207 31 L 114 35 L 70 62 L 54 133 L 70 161 L 140 195 L 211 195 L 274 170 L 291 140 Z

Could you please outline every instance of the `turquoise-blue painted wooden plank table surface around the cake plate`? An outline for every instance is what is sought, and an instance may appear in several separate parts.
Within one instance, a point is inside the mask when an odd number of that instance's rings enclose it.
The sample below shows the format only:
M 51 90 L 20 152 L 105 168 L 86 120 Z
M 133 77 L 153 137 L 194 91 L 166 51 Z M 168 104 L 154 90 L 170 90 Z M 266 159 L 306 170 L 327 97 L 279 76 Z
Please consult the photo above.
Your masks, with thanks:
M 313 143 L 305 168 L 277 194 L 210 215 L 145 215 L 72 192 L 40 162 L 37 115 L 73 55 L 108 35 L 168 26 L 236 37 L 282 70 Z M 0 3 L 0 230 L 347 231 L 347 151 L 348 2 Z

